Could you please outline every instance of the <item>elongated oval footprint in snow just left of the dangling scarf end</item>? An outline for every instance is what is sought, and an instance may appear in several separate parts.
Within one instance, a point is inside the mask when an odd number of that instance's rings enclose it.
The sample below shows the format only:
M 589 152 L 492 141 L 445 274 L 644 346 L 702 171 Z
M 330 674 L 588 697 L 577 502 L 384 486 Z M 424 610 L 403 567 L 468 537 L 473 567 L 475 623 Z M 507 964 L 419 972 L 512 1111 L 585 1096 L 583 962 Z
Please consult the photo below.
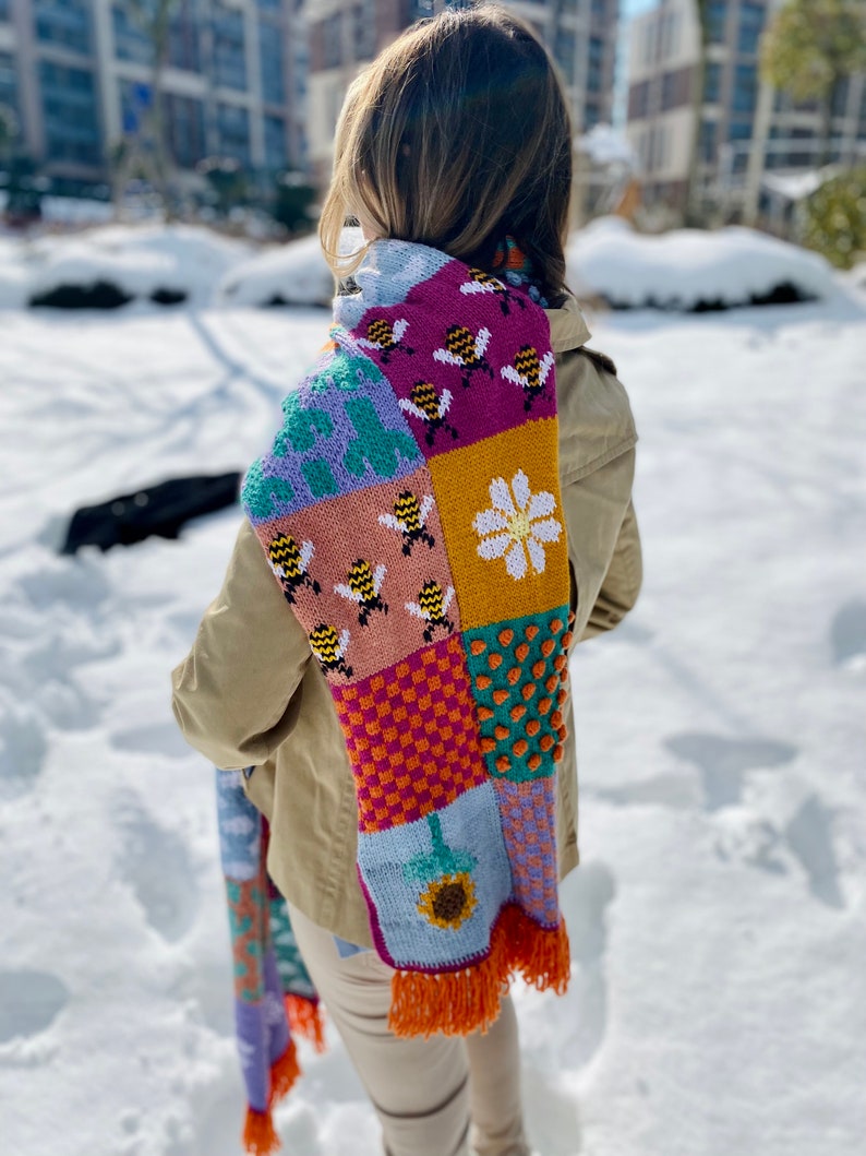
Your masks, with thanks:
M 136 803 L 120 809 L 120 876 L 132 887 L 150 926 L 169 943 L 192 927 L 199 889 L 182 840 L 164 830 Z

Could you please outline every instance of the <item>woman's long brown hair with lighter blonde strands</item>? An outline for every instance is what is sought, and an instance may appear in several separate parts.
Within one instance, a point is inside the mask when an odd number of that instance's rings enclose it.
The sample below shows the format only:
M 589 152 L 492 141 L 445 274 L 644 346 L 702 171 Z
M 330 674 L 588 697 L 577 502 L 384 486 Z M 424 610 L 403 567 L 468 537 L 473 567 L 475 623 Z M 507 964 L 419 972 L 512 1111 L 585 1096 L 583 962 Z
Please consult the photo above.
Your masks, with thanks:
M 337 277 L 346 216 L 491 269 L 506 234 L 547 296 L 565 289 L 572 129 L 547 53 L 494 5 L 410 28 L 356 79 L 337 125 L 319 236 Z

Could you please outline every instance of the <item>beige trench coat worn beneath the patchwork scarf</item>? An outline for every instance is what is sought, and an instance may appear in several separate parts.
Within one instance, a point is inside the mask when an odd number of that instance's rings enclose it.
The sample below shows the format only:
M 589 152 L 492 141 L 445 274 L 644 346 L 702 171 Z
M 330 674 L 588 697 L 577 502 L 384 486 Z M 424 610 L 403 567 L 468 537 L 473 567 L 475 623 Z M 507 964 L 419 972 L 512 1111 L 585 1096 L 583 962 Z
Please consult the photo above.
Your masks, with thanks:
M 547 316 L 580 639 L 615 627 L 640 590 L 630 502 L 636 435 L 612 364 L 583 349 L 589 331 L 576 302 Z M 372 946 L 354 866 L 358 815 L 343 733 L 324 675 L 248 523 L 223 588 L 172 677 L 174 714 L 188 742 L 219 768 L 255 768 L 247 793 L 270 821 L 268 867 L 277 887 L 321 927 Z M 570 703 L 563 714 L 570 718 Z M 578 861 L 573 727 L 558 778 L 562 877 Z

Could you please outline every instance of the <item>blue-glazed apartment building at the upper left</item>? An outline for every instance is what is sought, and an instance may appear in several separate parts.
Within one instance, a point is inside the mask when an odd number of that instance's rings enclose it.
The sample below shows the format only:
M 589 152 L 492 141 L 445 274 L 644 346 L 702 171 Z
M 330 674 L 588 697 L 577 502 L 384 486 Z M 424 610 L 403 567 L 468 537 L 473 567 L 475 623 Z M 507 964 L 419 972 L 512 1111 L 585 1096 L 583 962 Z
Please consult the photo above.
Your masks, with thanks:
M 300 0 L 179 0 L 160 81 L 174 166 L 303 169 L 306 71 Z M 152 89 L 128 0 L 0 0 L 0 104 L 47 175 L 104 179 L 106 148 L 144 128 Z

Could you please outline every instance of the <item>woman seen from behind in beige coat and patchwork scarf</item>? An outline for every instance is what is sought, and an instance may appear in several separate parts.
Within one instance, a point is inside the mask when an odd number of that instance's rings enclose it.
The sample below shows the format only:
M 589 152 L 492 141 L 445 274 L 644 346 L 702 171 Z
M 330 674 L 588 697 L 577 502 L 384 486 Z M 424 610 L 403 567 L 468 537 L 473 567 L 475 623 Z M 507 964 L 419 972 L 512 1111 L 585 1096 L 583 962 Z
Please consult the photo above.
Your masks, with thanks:
M 561 88 L 506 10 L 423 21 L 358 77 L 329 340 L 174 674 L 188 740 L 253 768 L 390 1156 L 525 1156 L 507 985 L 569 977 L 568 658 L 641 573 L 628 402 L 565 283 L 570 188 Z

